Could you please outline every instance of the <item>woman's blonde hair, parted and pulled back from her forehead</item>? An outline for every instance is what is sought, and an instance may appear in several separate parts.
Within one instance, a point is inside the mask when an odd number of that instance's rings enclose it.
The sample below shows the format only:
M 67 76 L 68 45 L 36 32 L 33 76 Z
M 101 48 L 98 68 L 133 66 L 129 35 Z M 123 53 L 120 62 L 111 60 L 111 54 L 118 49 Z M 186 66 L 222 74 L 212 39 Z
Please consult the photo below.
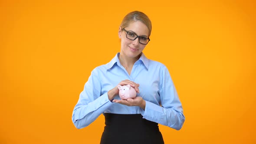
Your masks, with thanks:
M 151 30 L 152 30 L 152 24 L 151 20 L 148 18 L 148 16 L 145 13 L 142 13 L 140 11 L 133 11 L 131 13 L 128 13 L 124 19 L 121 22 L 121 29 L 127 27 L 131 22 L 136 22 L 136 21 L 141 21 L 144 23 L 149 30 L 148 37 L 151 35 Z

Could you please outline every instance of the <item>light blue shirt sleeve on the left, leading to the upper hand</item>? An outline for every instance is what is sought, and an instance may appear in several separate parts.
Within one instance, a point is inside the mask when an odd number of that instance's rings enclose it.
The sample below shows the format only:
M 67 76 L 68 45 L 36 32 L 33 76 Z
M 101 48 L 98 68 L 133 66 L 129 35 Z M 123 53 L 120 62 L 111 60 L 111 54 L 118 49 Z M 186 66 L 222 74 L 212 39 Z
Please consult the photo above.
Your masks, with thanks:
M 72 122 L 76 128 L 84 128 L 95 121 L 107 108 L 112 105 L 108 93 L 101 95 L 101 83 L 94 69 L 85 83 L 79 100 L 72 114 Z

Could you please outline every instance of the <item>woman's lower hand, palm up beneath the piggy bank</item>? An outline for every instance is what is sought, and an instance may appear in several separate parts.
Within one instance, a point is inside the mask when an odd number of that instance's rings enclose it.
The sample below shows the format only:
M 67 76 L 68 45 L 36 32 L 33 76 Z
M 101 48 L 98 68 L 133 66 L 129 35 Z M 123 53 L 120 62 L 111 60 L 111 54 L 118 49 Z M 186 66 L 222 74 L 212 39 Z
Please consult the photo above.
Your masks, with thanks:
M 137 96 L 135 98 L 128 98 L 127 100 L 114 99 L 113 102 L 119 103 L 122 105 L 127 105 L 127 106 L 139 106 L 144 110 L 145 110 L 145 106 L 146 106 L 146 101 L 139 96 Z

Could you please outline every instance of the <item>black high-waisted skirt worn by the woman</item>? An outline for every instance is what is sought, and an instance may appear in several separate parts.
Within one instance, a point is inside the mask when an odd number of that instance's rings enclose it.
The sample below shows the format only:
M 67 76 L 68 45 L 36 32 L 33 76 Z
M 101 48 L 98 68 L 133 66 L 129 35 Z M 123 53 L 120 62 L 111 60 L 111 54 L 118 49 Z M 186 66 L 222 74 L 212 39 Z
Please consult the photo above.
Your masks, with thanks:
M 105 128 L 100 144 L 164 144 L 158 123 L 141 114 L 105 113 Z

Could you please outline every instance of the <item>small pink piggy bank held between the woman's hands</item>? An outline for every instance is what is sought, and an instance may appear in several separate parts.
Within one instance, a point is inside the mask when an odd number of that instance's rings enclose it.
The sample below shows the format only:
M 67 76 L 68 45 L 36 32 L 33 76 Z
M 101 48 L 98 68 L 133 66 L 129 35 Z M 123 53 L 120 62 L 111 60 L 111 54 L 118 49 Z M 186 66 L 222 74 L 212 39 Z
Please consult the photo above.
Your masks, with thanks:
M 136 90 L 131 87 L 131 85 L 118 85 L 117 87 L 119 89 L 119 97 L 122 100 L 127 100 L 128 98 L 135 98 L 137 95 Z

